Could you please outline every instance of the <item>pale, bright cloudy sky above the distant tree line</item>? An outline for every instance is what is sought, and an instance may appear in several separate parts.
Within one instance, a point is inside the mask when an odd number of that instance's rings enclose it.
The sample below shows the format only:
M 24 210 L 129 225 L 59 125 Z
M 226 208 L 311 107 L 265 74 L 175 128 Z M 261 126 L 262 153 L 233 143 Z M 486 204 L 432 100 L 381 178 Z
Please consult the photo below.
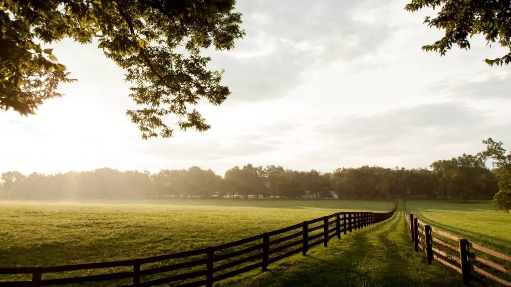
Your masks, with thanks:
M 442 31 L 423 25 L 432 10 L 406 12 L 406 3 L 239 0 L 246 36 L 232 51 L 205 52 L 233 93 L 221 106 L 197 107 L 210 130 L 176 127 L 173 138 L 142 139 L 125 114 L 135 107 L 131 85 L 97 44 L 52 44 L 79 81 L 62 84 L 65 96 L 37 115 L 0 113 L 0 173 L 428 168 L 484 150 L 488 137 L 509 147 L 511 67 L 483 62 L 505 49 L 475 36 L 470 51 L 424 52 Z

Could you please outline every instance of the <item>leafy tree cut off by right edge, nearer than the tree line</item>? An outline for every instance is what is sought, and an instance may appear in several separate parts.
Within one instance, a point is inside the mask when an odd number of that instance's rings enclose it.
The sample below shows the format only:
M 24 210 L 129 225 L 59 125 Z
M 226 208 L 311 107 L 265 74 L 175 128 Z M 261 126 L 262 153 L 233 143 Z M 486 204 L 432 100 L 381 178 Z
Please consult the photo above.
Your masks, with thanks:
M 492 164 L 498 169 L 499 192 L 493 198 L 493 207 L 497 211 L 508 212 L 511 209 L 511 152 L 506 155 L 502 141 L 496 142 L 489 138 L 482 142 L 486 145 L 486 150 L 477 155 L 483 160 L 493 159 Z

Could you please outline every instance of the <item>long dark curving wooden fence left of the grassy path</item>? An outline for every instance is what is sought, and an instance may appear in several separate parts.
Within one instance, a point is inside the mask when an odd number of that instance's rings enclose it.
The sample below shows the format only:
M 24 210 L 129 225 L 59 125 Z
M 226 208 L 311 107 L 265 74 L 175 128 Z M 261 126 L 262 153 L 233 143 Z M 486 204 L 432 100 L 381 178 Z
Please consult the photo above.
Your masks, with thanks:
M 0 281 L 0 286 L 49 286 L 109 280 L 115 280 L 110 283 L 117 286 L 164 283 L 181 287 L 213 286 L 214 282 L 253 269 L 265 271 L 271 263 L 293 254 L 301 252 L 306 255 L 314 246 L 327 247 L 333 237 L 340 239 L 341 234 L 387 220 L 396 212 L 396 208 L 397 204 L 392 211 L 385 213 L 337 212 L 230 243 L 154 257 L 51 267 L 0 268 L 0 274 L 31 276 L 31 280 Z M 171 260 L 179 262 L 169 264 Z M 154 264 L 158 265 L 155 267 Z M 111 272 L 114 268 L 124 270 Z M 96 270 L 100 274 L 62 276 L 65 272 L 83 270 Z M 53 275 L 53 278 L 43 278 L 52 277 L 43 275 Z M 100 284 L 105 285 L 106 282 Z

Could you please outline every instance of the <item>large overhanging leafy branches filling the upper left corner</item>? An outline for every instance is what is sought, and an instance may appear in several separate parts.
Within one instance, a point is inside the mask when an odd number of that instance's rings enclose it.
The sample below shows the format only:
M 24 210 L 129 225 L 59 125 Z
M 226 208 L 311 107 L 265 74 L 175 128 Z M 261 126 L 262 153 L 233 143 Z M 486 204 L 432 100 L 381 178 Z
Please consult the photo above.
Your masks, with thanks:
M 45 100 L 60 97 L 59 83 L 73 82 L 51 48 L 73 38 L 97 40 L 107 58 L 134 84 L 140 109 L 128 110 L 142 137 L 171 137 L 163 118 L 177 115 L 180 129 L 210 128 L 190 110 L 200 99 L 214 105 L 230 94 L 223 71 L 206 68 L 201 49 L 230 50 L 242 38 L 236 0 L 2 0 L 0 10 L 0 110 L 35 114 Z M 40 39 L 41 42 L 38 42 Z M 179 47 L 185 52 L 176 52 Z

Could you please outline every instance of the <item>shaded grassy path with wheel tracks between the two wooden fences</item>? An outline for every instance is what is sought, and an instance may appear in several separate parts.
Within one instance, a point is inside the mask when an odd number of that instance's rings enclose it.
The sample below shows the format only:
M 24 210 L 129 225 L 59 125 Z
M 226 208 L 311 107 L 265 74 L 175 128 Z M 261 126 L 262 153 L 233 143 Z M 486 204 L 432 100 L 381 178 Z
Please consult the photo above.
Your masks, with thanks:
M 461 286 L 460 276 L 438 262 L 426 265 L 424 253 L 413 251 L 400 203 L 386 222 L 218 286 Z

